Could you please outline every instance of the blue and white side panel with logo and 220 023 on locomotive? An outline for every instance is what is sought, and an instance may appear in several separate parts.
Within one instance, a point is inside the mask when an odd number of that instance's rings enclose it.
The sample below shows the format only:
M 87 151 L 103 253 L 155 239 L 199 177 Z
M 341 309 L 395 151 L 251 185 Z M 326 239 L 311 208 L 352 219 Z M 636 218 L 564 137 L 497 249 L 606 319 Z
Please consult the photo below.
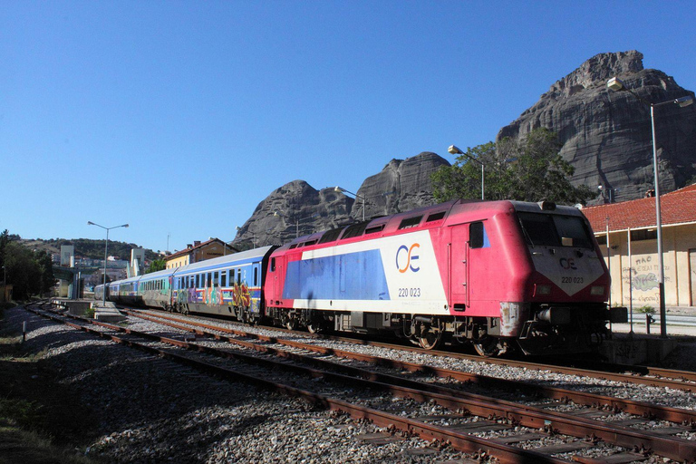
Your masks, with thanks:
M 283 298 L 295 308 L 448 314 L 430 232 L 304 251 L 287 264 Z

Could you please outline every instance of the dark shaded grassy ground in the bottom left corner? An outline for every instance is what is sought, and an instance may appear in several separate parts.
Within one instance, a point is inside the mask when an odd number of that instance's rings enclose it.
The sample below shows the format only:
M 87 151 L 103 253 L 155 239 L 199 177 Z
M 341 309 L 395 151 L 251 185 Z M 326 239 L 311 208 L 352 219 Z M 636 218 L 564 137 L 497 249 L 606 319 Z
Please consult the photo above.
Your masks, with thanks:
M 55 382 L 42 353 L 28 353 L 21 333 L 0 320 L 0 464 L 100 462 L 83 449 L 96 419 L 69 388 Z

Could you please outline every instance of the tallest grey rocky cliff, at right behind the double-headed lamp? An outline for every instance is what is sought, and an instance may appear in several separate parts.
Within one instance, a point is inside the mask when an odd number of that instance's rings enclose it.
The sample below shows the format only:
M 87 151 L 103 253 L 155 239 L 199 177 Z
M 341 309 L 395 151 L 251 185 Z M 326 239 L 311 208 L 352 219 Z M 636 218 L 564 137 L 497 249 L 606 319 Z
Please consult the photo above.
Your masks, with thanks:
M 497 140 L 545 127 L 558 133 L 561 154 L 575 167 L 573 183 L 602 186 L 597 202 L 643 197 L 654 188 L 650 106 L 630 92 L 607 89 L 614 76 L 645 102 L 693 96 L 667 74 L 643 69 L 642 53 L 601 53 L 554 83 L 500 130 Z M 696 105 L 666 104 L 654 111 L 665 193 L 681 188 L 696 172 Z

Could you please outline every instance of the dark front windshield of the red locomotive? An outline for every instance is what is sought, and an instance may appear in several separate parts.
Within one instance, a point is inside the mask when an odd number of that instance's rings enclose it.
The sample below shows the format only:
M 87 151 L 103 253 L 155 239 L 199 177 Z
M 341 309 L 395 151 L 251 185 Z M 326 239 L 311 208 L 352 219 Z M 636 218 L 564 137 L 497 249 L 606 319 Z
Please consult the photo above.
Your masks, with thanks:
M 529 245 L 593 248 L 582 218 L 527 212 L 518 212 L 517 216 Z

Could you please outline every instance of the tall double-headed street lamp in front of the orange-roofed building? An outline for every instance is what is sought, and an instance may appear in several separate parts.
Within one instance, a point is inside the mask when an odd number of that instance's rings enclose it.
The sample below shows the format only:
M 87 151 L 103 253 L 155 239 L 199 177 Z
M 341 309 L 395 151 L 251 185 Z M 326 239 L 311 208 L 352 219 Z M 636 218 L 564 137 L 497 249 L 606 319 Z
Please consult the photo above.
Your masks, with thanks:
M 660 336 L 662 338 L 667 338 L 667 310 L 664 304 L 664 261 L 662 259 L 662 212 L 660 210 L 660 175 L 658 173 L 657 165 L 657 142 L 655 140 L 655 107 L 662 106 L 670 103 L 678 104 L 681 108 L 689 106 L 693 103 L 693 97 L 685 96 L 680 98 L 675 98 L 668 100 L 666 102 L 651 103 L 640 97 L 638 94 L 633 92 L 631 89 L 627 88 L 623 82 L 617 78 L 613 77 L 606 82 L 606 86 L 615 91 L 626 91 L 631 93 L 635 98 L 643 102 L 644 104 L 650 106 L 650 121 L 652 124 L 652 169 L 655 175 L 655 217 L 657 221 L 657 266 L 660 271 L 660 276 L 658 280 L 658 289 L 660 291 Z

